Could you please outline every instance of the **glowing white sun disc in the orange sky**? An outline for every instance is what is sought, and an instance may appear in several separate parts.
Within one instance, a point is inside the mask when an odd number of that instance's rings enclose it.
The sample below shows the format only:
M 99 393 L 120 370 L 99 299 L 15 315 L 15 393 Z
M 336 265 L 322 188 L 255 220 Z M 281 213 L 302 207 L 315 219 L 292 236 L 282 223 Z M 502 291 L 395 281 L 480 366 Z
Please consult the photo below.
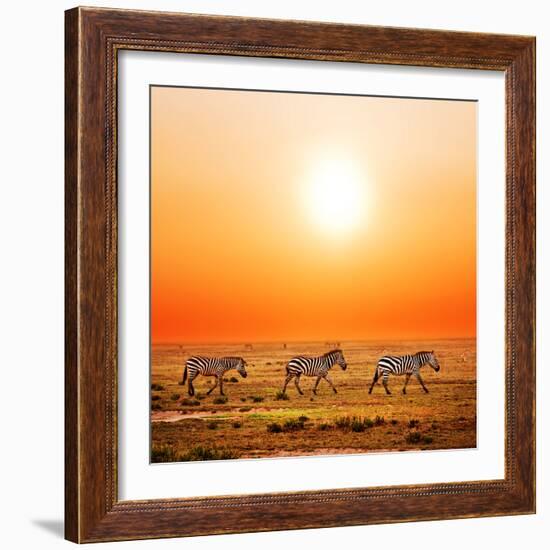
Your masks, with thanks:
M 312 221 L 331 234 L 349 233 L 363 217 L 364 178 L 353 162 L 326 159 L 316 164 L 307 185 Z

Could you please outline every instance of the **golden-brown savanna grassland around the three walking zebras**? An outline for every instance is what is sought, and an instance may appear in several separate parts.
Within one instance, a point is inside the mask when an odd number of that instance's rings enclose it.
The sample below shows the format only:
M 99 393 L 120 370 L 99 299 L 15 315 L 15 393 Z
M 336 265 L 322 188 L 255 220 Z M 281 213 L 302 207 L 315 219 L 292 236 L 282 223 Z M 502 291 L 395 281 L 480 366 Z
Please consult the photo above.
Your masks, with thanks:
M 331 378 L 333 393 L 321 380 L 302 377 L 286 397 L 280 392 L 285 365 L 295 355 L 320 355 L 326 343 L 218 345 L 158 345 L 152 350 L 151 421 L 153 462 L 258 458 L 373 451 L 461 449 L 476 446 L 476 347 L 474 339 L 341 342 L 348 369 L 338 366 Z M 434 350 L 441 370 L 421 370 L 430 393 L 411 378 L 390 377 L 392 395 L 379 382 L 368 389 L 377 359 Z M 185 359 L 193 354 L 241 356 L 248 377 L 236 371 L 219 387 L 206 392 L 213 378 L 194 381 L 195 396 L 182 386 Z

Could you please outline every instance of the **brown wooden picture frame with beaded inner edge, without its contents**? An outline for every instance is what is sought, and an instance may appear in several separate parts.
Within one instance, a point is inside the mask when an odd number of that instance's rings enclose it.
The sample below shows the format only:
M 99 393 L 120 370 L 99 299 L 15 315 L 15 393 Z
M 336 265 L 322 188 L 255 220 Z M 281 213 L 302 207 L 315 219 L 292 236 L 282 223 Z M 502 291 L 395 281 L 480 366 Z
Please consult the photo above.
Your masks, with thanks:
M 117 52 L 122 49 L 504 72 L 504 479 L 118 500 L 116 84 Z M 65 56 L 65 532 L 69 540 L 93 542 L 534 512 L 533 37 L 75 8 L 66 12 Z

